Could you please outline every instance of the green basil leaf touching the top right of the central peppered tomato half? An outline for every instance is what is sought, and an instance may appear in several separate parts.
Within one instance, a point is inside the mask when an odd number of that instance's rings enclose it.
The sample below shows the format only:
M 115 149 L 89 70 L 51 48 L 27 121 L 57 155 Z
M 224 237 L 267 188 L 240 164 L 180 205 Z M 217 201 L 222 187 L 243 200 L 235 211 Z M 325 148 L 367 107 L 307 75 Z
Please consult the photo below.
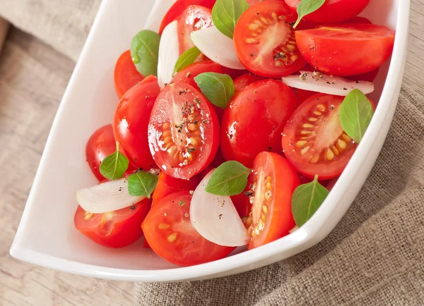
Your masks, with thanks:
M 194 81 L 209 102 L 221 109 L 225 109 L 235 93 L 234 82 L 230 75 L 207 72 L 197 75 Z

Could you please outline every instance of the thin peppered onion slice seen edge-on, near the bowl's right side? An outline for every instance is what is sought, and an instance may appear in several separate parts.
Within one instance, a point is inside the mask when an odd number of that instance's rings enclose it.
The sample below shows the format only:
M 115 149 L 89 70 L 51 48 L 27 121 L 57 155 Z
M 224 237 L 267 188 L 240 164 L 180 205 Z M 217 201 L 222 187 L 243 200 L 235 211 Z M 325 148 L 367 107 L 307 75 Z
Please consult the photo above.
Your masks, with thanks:
M 352 81 L 310 71 L 300 71 L 300 75 L 288 75 L 283 78 L 283 82 L 290 87 L 299 88 L 300 90 L 310 90 L 312 92 L 322 92 L 323 94 L 334 94 L 336 96 L 347 96 L 354 89 L 358 89 L 364 94 L 370 94 L 374 91 L 373 82 Z

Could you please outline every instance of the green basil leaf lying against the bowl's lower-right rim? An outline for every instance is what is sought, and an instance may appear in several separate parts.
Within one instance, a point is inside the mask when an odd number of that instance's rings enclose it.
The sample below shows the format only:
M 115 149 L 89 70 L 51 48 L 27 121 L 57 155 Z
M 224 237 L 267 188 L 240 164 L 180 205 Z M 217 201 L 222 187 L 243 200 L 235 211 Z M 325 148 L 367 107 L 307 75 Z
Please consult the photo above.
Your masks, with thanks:
M 315 176 L 311 183 L 300 185 L 292 195 L 292 213 L 298 227 L 308 221 L 324 202 L 329 190 L 326 190 Z

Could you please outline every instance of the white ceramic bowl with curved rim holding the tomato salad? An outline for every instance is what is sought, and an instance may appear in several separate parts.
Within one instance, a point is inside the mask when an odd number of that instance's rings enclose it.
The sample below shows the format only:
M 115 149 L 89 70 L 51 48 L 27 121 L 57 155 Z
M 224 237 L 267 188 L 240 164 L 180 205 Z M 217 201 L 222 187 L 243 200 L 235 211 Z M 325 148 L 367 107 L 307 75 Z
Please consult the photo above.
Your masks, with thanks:
M 169 6 L 172 0 L 163 1 Z M 110 250 L 73 227 L 75 190 L 96 180 L 85 161 L 86 140 L 112 122 L 118 100 L 113 68 L 143 27 L 153 0 L 103 0 L 54 119 L 11 255 L 74 274 L 122 281 L 183 281 L 236 274 L 288 258 L 319 243 L 358 194 L 387 136 L 401 88 L 408 37 L 409 0 L 372 0 L 363 16 L 396 29 L 394 52 L 376 81 L 377 111 L 363 141 L 322 207 L 298 231 L 254 250 L 195 267 L 176 267 L 136 243 Z M 157 6 L 156 6 L 157 8 Z M 152 19 L 150 20 L 152 21 Z M 155 21 L 153 19 L 153 21 Z M 150 23 L 151 27 L 157 23 Z

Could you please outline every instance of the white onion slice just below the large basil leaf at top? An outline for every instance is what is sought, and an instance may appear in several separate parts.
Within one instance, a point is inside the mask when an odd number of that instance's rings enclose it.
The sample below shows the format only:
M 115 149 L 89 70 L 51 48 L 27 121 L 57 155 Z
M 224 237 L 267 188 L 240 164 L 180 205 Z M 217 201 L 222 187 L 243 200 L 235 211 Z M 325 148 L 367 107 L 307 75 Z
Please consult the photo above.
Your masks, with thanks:
M 194 45 L 212 61 L 232 69 L 246 69 L 237 57 L 232 39 L 219 32 L 216 26 L 192 32 L 191 36 Z

